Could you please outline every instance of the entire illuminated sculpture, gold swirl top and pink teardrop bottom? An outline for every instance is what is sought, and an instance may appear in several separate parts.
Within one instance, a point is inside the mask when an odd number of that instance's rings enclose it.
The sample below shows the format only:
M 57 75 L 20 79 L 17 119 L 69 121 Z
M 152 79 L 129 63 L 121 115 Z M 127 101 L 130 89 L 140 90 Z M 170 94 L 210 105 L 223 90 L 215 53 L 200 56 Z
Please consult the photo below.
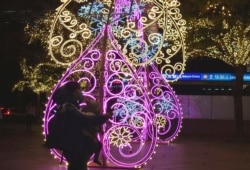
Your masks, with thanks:
M 102 141 L 107 159 L 118 166 L 141 167 L 156 153 L 157 142 L 172 141 L 180 131 L 181 107 L 162 76 L 177 74 L 168 80 L 176 81 L 184 71 L 185 20 L 179 5 L 176 0 L 69 0 L 57 9 L 49 53 L 69 67 L 52 95 L 75 80 L 85 98 L 100 101 L 104 114 L 113 112 Z M 56 109 L 50 97 L 45 136 Z M 59 151 L 51 152 L 61 158 Z

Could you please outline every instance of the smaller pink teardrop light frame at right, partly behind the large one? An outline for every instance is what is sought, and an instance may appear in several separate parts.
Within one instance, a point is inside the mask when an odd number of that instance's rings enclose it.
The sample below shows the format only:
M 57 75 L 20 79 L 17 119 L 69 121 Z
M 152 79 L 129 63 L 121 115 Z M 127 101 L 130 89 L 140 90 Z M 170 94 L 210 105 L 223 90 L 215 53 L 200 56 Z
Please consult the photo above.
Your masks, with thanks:
M 138 75 L 143 77 L 148 87 L 155 121 L 158 126 L 158 141 L 169 142 L 180 132 L 182 126 L 182 109 L 173 89 L 163 79 L 155 65 L 140 67 Z M 161 119 L 161 120 L 160 120 Z

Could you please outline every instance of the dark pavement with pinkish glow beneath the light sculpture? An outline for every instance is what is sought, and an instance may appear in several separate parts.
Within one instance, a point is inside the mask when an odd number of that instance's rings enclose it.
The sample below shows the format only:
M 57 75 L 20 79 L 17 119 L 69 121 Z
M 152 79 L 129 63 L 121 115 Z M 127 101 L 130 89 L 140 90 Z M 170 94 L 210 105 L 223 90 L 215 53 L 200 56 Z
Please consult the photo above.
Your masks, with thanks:
M 41 125 L 35 125 L 28 133 L 24 124 L 0 124 L 0 170 L 66 170 L 42 144 Z M 172 143 L 159 144 L 153 159 L 141 170 L 250 170 L 250 142 L 246 138 L 180 133 Z

